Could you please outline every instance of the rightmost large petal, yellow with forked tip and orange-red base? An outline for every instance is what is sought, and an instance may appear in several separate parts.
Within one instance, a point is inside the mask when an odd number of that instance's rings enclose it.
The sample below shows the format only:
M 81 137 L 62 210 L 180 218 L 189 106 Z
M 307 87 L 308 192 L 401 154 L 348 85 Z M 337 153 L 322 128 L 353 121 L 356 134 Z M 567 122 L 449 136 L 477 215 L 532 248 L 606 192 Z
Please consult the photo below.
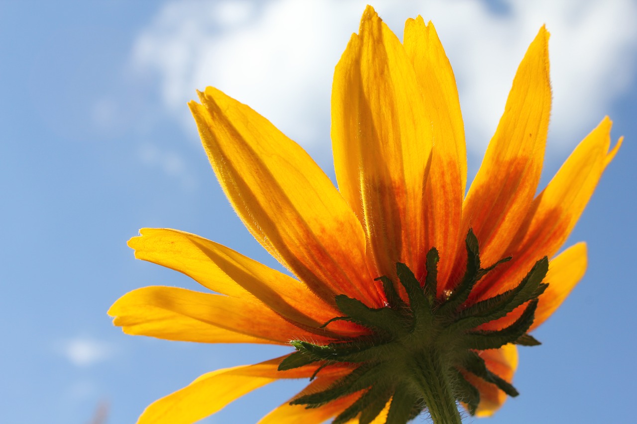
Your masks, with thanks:
M 486 299 L 517 285 L 537 260 L 552 257 L 566 241 L 601 174 L 622 144 L 620 139 L 615 148 L 608 151 L 611 125 L 612 122 L 604 118 L 536 197 L 508 248 L 513 259 L 480 282 L 472 293 L 476 299 Z

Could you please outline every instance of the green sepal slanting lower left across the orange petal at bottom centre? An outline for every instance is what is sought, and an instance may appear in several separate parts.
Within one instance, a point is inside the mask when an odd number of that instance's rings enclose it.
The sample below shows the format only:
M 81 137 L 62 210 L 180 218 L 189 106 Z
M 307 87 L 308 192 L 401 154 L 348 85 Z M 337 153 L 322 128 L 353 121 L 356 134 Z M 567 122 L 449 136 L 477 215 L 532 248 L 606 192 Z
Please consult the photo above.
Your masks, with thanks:
M 290 402 L 290 405 L 306 405 L 308 408 L 325 405 L 341 396 L 350 395 L 373 386 L 374 383 L 377 383 L 380 371 L 382 370 L 377 364 L 361 365 L 347 376 L 337 380 L 326 390 L 297 397 Z

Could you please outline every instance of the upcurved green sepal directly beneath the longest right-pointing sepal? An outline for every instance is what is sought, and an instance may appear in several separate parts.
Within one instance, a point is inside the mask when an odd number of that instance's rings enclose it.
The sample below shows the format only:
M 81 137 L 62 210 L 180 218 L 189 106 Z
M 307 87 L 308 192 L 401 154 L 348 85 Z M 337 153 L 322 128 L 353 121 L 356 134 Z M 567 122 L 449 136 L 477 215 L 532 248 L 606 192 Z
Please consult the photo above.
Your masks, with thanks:
M 508 343 L 515 343 L 533 324 L 537 307 L 538 299 L 531 300 L 522 315 L 520 315 L 520 318 L 504 329 L 495 331 L 476 330 L 466 333 L 462 337 L 463 346 L 467 349 L 487 350 L 501 348 Z

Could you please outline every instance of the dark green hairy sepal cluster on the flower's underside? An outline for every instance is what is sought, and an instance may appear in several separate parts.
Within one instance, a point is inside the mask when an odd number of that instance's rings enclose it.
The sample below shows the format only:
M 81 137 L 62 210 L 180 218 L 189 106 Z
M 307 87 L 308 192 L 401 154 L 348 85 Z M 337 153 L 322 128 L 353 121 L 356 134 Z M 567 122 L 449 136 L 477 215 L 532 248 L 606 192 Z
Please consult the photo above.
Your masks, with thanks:
M 464 402 L 474 414 L 480 403 L 480 392 L 469 383 L 465 377 L 468 374 L 496 385 L 510 396 L 517 396 L 517 390 L 489 371 L 476 351 L 497 349 L 508 343 L 540 344 L 526 332 L 533 324 L 538 297 L 548 286 L 542 282 L 548 271 L 548 258 L 538 260 L 512 290 L 468 306 L 466 300 L 476 283 L 511 258 L 482 268 L 473 230 L 469 230 L 466 237 L 466 251 L 464 276 L 455 290 L 443 299 L 436 296 L 439 260 L 436 248 L 427 253 L 427 276 L 423 286 L 405 264 L 396 264 L 408 303 L 401 299 L 397 285 L 386 276 L 377 278 L 382 281 L 387 298 L 385 307 L 372 309 L 360 300 L 336 296 L 336 305 L 343 316 L 329 320 L 324 327 L 345 320 L 366 327 L 371 335 L 326 345 L 292 341 L 297 351 L 283 360 L 278 367 L 280 371 L 315 362 L 322 362 L 315 376 L 327 365 L 347 363 L 355 369 L 326 390 L 301 395 L 290 404 L 320 407 L 364 391 L 354 404 L 336 417 L 334 423 L 345 423 L 357 416 L 359 423 L 371 423 L 390 399 L 387 423 L 406 423 L 426 409 L 427 404 L 438 402 L 436 398 L 447 395 L 451 404 L 455 400 Z M 524 312 L 508 327 L 492 331 L 476 329 L 503 318 L 524 304 L 527 304 Z M 440 387 L 434 387 L 440 382 L 447 393 L 440 393 Z M 430 409 L 432 414 L 433 409 Z

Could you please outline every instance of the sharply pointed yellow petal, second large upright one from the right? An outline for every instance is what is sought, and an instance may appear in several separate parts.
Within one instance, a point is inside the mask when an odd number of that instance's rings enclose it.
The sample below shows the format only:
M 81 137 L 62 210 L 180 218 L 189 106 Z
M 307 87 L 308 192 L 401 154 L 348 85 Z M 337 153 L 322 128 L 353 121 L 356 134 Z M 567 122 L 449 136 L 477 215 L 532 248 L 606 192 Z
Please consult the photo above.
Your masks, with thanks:
M 462 229 L 466 234 L 473 228 L 485 265 L 508 253 L 540 180 L 551 106 L 547 43 L 542 27 L 518 67 L 505 113 L 464 202 Z

